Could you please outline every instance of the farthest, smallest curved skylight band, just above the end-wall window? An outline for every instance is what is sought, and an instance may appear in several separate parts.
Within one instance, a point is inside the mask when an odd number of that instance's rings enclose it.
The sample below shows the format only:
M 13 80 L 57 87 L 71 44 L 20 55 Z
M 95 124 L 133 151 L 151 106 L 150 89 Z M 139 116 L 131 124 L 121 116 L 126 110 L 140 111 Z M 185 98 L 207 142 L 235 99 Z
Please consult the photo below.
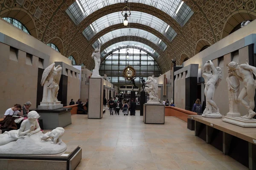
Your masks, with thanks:
M 158 58 L 159 54 L 151 47 L 149 47 L 148 45 L 145 45 L 141 42 L 136 42 L 136 41 L 122 41 L 122 42 L 117 42 L 111 46 L 109 46 L 108 48 L 105 48 L 104 50 L 102 49 L 101 52 L 101 56 L 105 57 L 106 54 L 110 53 L 111 51 L 117 49 L 117 48 L 121 48 L 121 47 L 128 47 L 128 48 L 133 48 L 133 47 L 137 47 L 137 48 L 142 48 L 145 51 L 148 51 L 148 54 L 150 54 L 152 57 L 154 58 Z

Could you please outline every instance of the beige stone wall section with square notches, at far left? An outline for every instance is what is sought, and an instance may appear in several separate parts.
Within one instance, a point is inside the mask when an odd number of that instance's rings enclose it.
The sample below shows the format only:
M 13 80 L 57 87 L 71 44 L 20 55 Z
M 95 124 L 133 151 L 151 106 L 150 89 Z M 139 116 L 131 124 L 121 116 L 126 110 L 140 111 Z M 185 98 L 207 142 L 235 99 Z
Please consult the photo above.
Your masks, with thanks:
M 14 104 L 36 106 L 38 57 L 0 42 L 0 118 Z

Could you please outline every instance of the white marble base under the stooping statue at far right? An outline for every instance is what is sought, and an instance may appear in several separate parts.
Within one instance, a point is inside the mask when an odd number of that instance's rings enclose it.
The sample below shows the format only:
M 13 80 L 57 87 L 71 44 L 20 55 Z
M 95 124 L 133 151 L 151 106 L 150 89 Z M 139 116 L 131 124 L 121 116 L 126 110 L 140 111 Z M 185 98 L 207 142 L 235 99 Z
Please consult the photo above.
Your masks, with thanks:
M 225 116 L 222 121 L 241 127 L 256 127 L 256 119 L 243 119 L 241 117 Z

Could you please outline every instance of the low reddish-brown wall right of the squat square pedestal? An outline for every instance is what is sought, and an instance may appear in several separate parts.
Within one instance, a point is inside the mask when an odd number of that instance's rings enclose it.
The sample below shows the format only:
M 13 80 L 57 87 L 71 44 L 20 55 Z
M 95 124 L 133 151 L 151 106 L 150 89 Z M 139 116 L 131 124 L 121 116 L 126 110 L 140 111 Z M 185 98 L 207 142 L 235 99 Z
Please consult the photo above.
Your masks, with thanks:
M 185 109 L 176 108 L 172 106 L 165 107 L 165 116 L 175 116 L 185 122 L 187 122 L 188 115 L 197 115 L 197 113 L 192 111 L 187 111 Z

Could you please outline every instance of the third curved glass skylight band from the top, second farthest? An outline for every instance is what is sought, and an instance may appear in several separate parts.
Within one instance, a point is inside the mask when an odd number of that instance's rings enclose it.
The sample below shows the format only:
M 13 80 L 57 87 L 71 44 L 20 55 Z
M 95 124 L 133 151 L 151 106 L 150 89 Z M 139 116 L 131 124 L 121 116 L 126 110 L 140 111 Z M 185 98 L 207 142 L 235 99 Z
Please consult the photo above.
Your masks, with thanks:
M 158 38 L 157 36 L 155 36 L 154 34 L 148 32 L 148 31 L 145 31 L 143 29 L 138 29 L 138 28 L 121 28 L 121 29 L 116 29 L 116 30 L 110 31 L 107 34 L 100 37 L 99 40 L 96 40 L 96 42 L 93 43 L 93 48 L 99 47 L 99 41 L 102 44 L 104 44 L 105 42 L 108 42 L 109 40 L 112 40 L 117 37 L 123 37 L 123 36 L 134 36 L 134 37 L 145 38 L 145 39 L 153 42 L 155 45 L 157 45 L 163 51 L 167 47 L 167 45 L 163 41 L 160 42 L 160 38 Z

